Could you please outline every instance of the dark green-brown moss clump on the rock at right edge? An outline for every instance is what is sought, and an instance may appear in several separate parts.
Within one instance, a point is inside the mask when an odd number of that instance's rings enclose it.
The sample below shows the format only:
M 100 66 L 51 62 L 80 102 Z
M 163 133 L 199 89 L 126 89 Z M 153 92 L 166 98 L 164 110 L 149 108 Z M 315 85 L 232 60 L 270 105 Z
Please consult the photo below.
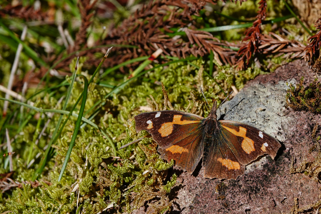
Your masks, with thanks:
M 296 87 L 290 84 L 290 89 L 285 95 L 286 107 L 296 111 L 305 110 L 319 113 L 321 111 L 321 84 L 317 81 L 315 79 L 307 87 L 304 87 L 304 77 L 301 77 Z

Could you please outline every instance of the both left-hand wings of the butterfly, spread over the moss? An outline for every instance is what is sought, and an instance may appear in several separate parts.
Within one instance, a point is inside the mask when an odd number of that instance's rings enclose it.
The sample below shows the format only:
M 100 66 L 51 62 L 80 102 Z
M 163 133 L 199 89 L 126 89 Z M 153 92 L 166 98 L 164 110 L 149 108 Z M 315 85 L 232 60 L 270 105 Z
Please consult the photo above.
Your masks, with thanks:
M 163 159 L 192 173 L 200 161 L 203 117 L 181 111 L 146 112 L 135 116 L 136 131 L 146 130 L 159 145 Z

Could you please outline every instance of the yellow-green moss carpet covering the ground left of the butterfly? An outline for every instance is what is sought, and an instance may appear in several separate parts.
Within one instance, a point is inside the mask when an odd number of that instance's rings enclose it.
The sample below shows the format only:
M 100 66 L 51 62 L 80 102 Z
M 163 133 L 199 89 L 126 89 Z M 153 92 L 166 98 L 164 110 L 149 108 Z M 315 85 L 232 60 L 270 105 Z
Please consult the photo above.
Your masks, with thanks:
M 81 62 L 85 63 L 85 59 Z M 11 188 L 1 193 L 0 212 L 12 210 L 16 213 L 74 213 L 77 202 L 78 206 L 83 205 L 86 213 L 97 213 L 110 204 L 113 204 L 110 212 L 117 210 L 130 212 L 151 199 L 154 199 L 149 204 L 152 207 L 151 212 L 162 213 L 169 210 L 171 201 L 167 195 L 173 186 L 178 185 L 175 174 L 167 175 L 167 169 L 173 166 L 173 162 L 166 163 L 160 159 L 156 151 L 157 144 L 152 138 L 144 138 L 122 150 L 118 149 L 130 141 L 147 135 L 146 132 L 136 133 L 134 116 L 141 113 L 140 107 L 155 107 L 154 104 L 149 106 L 147 103 L 146 98 L 150 98 L 150 95 L 160 108 L 163 107 L 160 82 L 163 82 L 168 91 L 168 99 L 177 110 L 190 111 L 195 105 L 197 114 L 206 116 L 209 113 L 208 107 L 204 105 L 204 98 L 198 92 L 198 86 L 202 86 L 209 102 L 224 98 L 213 79 L 204 77 L 203 70 L 208 70 L 208 62 L 200 59 L 193 61 L 192 64 L 200 69 L 185 62 L 170 64 L 146 73 L 142 78 L 143 81 L 134 80 L 120 93 L 114 94 L 111 99 L 106 99 L 103 110 L 93 121 L 108 134 L 117 151 L 113 151 L 110 142 L 98 130 L 87 124 L 80 129 L 65 174 L 58 182 L 60 169 L 74 131 L 76 118 L 71 117 L 52 146 L 55 150 L 45 170 L 38 177 L 41 185 L 32 187 L 30 184 L 22 184 L 19 188 Z M 82 64 L 79 73 L 81 67 Z M 214 78 L 223 90 L 228 92 L 231 84 L 241 89 L 246 81 L 260 73 L 263 72 L 256 68 L 236 72 L 230 66 L 222 66 L 217 67 Z M 90 78 L 87 73 L 82 72 L 82 74 Z M 67 81 L 70 81 L 70 78 L 67 78 Z M 57 89 L 55 93 L 63 94 L 66 87 Z M 76 79 L 67 109 L 72 107 L 82 90 L 82 81 Z M 91 84 L 85 111 L 110 91 L 111 89 Z M 195 103 L 191 92 L 196 95 Z M 61 109 L 63 102 L 59 104 L 57 96 L 53 95 L 54 93 L 40 93 L 34 98 L 35 106 L 43 109 Z M 11 108 L 18 107 L 10 105 Z M 18 182 L 32 179 L 60 116 L 53 115 L 44 135 L 35 145 L 34 142 L 41 131 L 40 127 L 48 121 L 48 115 L 30 109 L 24 111 L 26 115 L 32 117 L 21 132 L 17 133 L 11 144 L 13 151 L 19 154 L 13 156 L 15 171 L 13 178 Z M 36 164 L 27 168 L 30 160 L 34 160 Z M 9 170 L 7 158 L 2 158 L 0 164 L 2 166 L 0 173 L 7 173 Z M 78 191 L 74 189 L 76 185 L 79 185 L 79 199 L 77 199 Z

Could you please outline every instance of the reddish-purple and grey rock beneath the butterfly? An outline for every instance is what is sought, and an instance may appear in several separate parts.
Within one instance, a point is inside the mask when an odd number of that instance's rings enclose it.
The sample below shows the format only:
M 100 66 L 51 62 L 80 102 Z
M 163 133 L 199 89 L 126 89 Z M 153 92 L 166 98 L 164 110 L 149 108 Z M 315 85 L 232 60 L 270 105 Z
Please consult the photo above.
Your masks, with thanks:
M 169 213 L 289 213 L 295 198 L 299 207 L 320 200 L 316 181 L 305 174 L 290 174 L 289 170 L 292 158 L 299 165 L 317 156 L 317 151 L 309 154 L 308 150 L 314 144 L 313 127 L 321 124 L 321 117 L 284 107 L 286 82 L 298 83 L 301 76 L 310 82 L 315 75 L 304 61 L 297 60 L 272 74 L 258 76 L 224 103 L 217 111 L 218 118 L 254 125 L 276 137 L 282 147 L 274 160 L 270 156 L 258 158 L 236 180 L 204 178 L 201 164 L 192 175 L 174 167 L 168 173 L 179 175 L 181 185 L 171 192 L 174 203 Z M 145 207 L 137 213 L 146 210 Z

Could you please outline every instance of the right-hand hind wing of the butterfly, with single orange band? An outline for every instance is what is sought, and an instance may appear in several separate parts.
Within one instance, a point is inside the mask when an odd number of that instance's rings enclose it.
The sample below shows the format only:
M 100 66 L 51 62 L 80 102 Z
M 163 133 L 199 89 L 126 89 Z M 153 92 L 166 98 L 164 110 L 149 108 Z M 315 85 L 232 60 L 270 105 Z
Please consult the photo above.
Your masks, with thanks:
M 216 133 L 215 138 L 204 138 L 204 177 L 236 179 L 244 174 L 245 166 L 239 163 L 227 141 L 220 132 Z

